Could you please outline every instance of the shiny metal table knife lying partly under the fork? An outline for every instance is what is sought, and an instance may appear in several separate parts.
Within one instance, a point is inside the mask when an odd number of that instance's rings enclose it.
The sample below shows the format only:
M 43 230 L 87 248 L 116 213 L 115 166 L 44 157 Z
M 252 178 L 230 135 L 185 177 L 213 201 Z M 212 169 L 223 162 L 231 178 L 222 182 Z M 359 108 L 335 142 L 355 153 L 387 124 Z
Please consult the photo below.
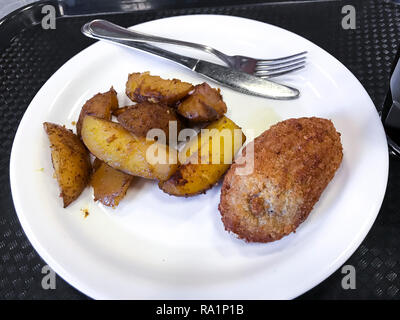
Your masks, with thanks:
M 183 56 L 147 43 L 126 40 L 127 32 L 129 30 L 112 23 L 98 23 L 96 20 L 88 22 L 82 27 L 82 33 L 87 37 L 115 42 L 172 60 L 235 91 L 275 100 L 291 100 L 300 95 L 299 90 L 286 85 L 261 79 L 219 64 Z

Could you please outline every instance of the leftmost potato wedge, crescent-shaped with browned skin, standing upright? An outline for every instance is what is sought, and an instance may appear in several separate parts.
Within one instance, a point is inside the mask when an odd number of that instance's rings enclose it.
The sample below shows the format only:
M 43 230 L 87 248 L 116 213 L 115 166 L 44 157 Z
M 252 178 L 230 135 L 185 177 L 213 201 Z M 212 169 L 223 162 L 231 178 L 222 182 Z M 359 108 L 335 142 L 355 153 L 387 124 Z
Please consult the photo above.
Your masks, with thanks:
M 45 122 L 43 127 L 51 144 L 51 159 L 66 208 L 89 182 L 89 153 L 71 130 L 49 122 Z

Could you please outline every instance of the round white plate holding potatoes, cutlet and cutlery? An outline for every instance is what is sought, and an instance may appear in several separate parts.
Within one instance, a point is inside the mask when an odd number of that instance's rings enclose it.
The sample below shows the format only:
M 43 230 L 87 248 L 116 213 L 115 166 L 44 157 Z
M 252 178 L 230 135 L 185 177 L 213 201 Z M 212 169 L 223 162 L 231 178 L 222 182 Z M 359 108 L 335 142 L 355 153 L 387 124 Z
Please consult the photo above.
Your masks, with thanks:
M 343 163 L 297 232 L 269 244 L 248 244 L 224 230 L 217 209 L 220 186 L 185 199 L 168 196 L 155 182 L 138 178 L 116 209 L 95 203 L 91 188 L 63 209 L 43 122 L 74 128 L 84 102 L 111 85 L 120 104 L 129 103 L 124 88 L 131 72 L 149 70 L 164 78 L 205 81 L 173 62 L 98 42 L 46 82 L 15 137 L 12 194 L 34 248 L 61 277 L 97 299 L 287 299 L 327 278 L 366 236 L 386 188 L 386 138 L 361 84 L 321 48 L 265 23 L 195 15 L 134 29 L 206 43 L 228 54 L 277 57 L 307 50 L 306 69 L 279 78 L 299 88 L 300 99 L 273 101 L 223 87 L 227 116 L 256 134 L 292 117 L 332 119 L 342 134 Z M 174 50 L 218 62 L 197 51 Z M 89 210 L 87 218 L 82 209 Z

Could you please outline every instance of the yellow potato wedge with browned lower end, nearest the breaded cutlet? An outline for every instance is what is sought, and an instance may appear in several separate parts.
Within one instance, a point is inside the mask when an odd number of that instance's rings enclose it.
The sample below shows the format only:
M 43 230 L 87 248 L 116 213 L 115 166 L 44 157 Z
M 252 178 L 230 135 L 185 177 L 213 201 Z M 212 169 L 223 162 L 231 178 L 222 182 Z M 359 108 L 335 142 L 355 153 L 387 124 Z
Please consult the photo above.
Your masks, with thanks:
M 183 163 L 159 187 L 174 196 L 193 196 L 215 185 L 229 169 L 246 137 L 227 117 L 211 123 L 179 153 Z

